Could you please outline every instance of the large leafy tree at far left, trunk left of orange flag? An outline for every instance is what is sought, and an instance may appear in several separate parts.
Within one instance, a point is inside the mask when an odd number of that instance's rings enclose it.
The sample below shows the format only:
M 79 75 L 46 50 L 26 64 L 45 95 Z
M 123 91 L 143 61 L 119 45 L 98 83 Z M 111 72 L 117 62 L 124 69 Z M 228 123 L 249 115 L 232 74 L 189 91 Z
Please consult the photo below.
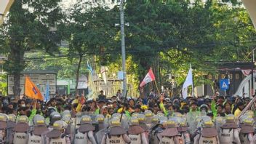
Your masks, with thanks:
M 9 11 L 7 21 L 1 26 L 1 49 L 8 60 L 4 69 L 14 76 L 15 96 L 20 95 L 20 72 L 25 68 L 25 52 L 44 49 L 52 53 L 57 50 L 60 37 L 57 31 L 50 31 L 62 18 L 58 2 L 15 1 Z

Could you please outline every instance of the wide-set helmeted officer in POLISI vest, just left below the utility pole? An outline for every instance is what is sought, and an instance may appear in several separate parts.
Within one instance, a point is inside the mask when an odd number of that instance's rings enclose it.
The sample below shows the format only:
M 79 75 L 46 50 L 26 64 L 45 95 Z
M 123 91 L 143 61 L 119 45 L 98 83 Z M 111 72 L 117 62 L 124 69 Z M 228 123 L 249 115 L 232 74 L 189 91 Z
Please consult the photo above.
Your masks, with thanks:
M 127 135 L 127 132 L 124 130 L 123 127 L 121 127 L 120 118 L 119 117 L 113 117 L 111 119 L 111 128 L 109 132 L 107 132 L 103 136 L 103 140 L 101 141 L 101 144 L 125 144 L 125 143 L 131 143 L 130 138 Z

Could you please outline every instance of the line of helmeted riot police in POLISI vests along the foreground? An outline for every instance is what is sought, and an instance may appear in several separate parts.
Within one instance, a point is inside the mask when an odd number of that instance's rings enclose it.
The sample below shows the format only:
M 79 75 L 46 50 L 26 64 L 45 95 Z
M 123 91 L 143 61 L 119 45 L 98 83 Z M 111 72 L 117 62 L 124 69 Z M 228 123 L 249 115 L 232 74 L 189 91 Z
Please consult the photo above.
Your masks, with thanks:
M 111 119 L 89 112 L 71 111 L 49 113 L 49 125 L 44 116 L 33 117 L 28 124 L 27 116 L 0 113 L 0 143 L 47 143 L 47 144 L 252 144 L 256 143 L 254 112 L 247 111 L 240 119 L 233 114 L 217 116 L 215 121 L 209 116 L 198 116 L 193 135 L 188 132 L 188 121 L 181 113 L 165 116 L 154 115 L 146 110 L 122 116 L 113 113 Z M 121 119 L 121 121 L 120 121 Z

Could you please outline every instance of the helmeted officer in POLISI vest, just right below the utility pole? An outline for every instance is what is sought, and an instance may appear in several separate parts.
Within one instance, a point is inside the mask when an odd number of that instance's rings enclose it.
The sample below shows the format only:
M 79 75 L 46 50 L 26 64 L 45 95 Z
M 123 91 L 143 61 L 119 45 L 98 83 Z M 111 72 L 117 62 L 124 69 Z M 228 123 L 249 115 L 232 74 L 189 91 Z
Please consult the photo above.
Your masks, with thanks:
M 131 144 L 148 144 L 148 140 L 145 136 L 145 130 L 140 127 L 137 117 L 132 117 L 130 119 L 130 124 L 128 134 L 131 139 Z

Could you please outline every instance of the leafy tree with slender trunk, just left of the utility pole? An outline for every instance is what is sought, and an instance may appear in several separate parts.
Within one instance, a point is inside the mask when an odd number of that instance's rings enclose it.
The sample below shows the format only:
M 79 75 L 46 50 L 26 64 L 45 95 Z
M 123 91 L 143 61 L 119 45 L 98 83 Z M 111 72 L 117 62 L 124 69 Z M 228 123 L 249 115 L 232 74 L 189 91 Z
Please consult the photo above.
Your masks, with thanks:
M 78 94 L 79 73 L 84 55 L 95 55 L 112 49 L 113 17 L 108 7 L 91 2 L 77 3 L 68 10 L 67 20 L 60 26 L 65 40 L 69 43 L 69 59 L 79 55 L 76 69 L 76 95 Z M 103 59 L 105 60 L 105 59 Z

